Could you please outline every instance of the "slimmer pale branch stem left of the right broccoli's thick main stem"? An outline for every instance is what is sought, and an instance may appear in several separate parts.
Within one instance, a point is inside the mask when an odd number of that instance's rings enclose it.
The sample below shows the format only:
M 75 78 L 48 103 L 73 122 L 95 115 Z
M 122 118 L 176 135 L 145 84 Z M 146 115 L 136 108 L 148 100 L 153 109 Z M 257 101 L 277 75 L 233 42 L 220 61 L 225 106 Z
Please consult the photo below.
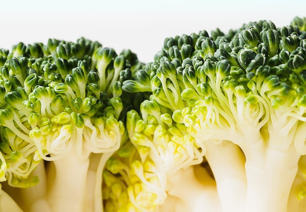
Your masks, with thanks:
M 246 192 L 245 157 L 239 146 L 205 141 L 205 158 L 214 174 L 223 212 L 243 212 Z M 235 191 L 235 195 L 233 195 Z

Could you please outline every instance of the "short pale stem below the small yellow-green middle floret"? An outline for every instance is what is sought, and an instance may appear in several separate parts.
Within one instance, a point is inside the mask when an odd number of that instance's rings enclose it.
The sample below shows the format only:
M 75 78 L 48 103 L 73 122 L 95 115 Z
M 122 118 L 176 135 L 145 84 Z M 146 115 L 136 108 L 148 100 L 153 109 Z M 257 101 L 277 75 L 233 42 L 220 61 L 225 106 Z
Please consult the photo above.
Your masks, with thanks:
M 171 196 L 176 197 L 176 201 L 170 204 L 175 212 L 221 212 L 216 183 L 200 165 L 178 170 L 168 183 L 170 197 L 166 201 L 172 201 Z M 166 206 L 169 207 L 169 204 L 166 203 Z M 163 208 L 162 211 L 173 211 L 173 207 L 168 210 Z

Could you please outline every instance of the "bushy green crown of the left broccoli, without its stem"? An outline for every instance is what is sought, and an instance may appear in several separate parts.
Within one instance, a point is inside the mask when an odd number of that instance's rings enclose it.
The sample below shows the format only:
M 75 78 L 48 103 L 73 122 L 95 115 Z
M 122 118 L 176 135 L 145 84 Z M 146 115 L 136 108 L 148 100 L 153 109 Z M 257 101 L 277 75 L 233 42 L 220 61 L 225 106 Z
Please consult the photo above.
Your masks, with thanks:
M 27 178 L 41 159 L 74 151 L 85 160 L 119 147 L 122 111 L 132 104 L 122 83 L 141 67 L 133 52 L 118 55 L 84 38 L 0 52 L 1 181 L 28 187 L 38 182 Z

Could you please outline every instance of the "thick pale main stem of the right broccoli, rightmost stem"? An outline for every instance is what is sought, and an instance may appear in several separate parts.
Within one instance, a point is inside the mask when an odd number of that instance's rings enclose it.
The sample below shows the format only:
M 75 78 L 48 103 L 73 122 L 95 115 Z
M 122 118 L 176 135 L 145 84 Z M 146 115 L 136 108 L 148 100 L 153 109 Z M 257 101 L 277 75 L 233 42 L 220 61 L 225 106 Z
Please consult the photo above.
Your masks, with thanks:
M 249 162 L 246 157 L 247 191 L 244 211 L 287 212 L 288 197 L 297 174 L 299 158 L 294 148 L 288 152 L 267 148 L 263 166 L 261 163 L 255 165 L 253 161 Z

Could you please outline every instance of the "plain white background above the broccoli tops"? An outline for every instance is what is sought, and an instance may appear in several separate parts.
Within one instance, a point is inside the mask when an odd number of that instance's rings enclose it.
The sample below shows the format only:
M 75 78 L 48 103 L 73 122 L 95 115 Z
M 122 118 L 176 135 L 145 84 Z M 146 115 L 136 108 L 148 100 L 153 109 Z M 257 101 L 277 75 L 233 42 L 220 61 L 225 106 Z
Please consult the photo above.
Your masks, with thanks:
M 306 16 L 306 0 L 0 0 L 0 47 L 81 36 L 153 61 L 166 37 Z

